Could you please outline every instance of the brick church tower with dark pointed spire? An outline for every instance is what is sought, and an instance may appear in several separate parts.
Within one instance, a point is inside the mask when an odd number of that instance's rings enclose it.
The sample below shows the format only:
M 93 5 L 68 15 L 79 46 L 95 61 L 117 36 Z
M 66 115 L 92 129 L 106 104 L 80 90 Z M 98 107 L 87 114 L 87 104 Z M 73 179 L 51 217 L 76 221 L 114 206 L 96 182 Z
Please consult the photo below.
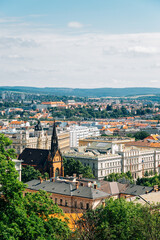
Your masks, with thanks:
M 58 147 L 58 137 L 56 133 L 56 123 L 53 124 L 53 132 L 51 139 L 51 150 L 50 150 L 50 177 L 64 176 L 63 158 Z

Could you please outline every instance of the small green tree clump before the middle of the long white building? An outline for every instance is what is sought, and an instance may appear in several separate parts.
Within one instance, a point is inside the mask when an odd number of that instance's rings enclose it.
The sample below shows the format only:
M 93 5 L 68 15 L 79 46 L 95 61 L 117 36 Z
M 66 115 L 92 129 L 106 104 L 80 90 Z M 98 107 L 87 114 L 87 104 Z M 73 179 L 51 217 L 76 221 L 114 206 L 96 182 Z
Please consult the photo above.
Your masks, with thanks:
M 117 182 L 124 178 L 128 180 L 130 183 L 133 183 L 133 177 L 130 171 L 126 173 L 111 173 L 108 176 L 106 176 L 104 180 L 109 182 L 114 182 L 114 181 Z

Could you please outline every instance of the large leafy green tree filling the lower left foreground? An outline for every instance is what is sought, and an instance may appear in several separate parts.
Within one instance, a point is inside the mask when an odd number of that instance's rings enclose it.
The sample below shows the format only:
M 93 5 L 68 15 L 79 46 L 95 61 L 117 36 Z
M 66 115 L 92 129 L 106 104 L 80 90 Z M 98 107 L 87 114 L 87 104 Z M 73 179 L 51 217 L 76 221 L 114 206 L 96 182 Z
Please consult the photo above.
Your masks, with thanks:
M 23 196 L 25 185 L 18 180 L 13 150 L 6 150 L 8 138 L 0 134 L 0 239 L 35 240 L 66 239 L 70 230 L 66 223 L 50 214 L 63 214 L 49 195 L 40 191 Z

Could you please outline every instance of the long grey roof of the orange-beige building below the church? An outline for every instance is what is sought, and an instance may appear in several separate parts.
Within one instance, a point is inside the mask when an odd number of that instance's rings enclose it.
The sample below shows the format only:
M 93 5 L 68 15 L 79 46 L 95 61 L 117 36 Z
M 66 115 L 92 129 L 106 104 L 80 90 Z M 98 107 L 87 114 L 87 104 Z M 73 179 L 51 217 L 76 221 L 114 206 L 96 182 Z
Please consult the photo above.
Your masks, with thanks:
M 98 198 L 107 198 L 110 194 L 102 192 L 98 189 L 91 187 L 79 186 L 76 189 L 76 186 L 71 182 L 51 182 L 43 181 L 40 183 L 40 180 L 32 180 L 26 183 L 27 188 L 32 190 L 44 190 L 50 193 L 56 193 L 67 196 L 76 196 L 89 199 L 98 199 Z

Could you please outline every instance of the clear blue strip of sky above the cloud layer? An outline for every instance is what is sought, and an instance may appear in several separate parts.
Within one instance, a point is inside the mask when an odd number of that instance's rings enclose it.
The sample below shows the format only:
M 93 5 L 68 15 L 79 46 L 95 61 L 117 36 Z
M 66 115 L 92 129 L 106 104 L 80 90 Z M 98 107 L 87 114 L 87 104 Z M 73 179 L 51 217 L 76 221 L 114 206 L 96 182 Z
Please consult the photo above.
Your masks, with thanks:
M 159 32 L 159 12 L 159 0 L 0 0 L 1 17 L 55 28 L 76 21 L 106 33 Z

